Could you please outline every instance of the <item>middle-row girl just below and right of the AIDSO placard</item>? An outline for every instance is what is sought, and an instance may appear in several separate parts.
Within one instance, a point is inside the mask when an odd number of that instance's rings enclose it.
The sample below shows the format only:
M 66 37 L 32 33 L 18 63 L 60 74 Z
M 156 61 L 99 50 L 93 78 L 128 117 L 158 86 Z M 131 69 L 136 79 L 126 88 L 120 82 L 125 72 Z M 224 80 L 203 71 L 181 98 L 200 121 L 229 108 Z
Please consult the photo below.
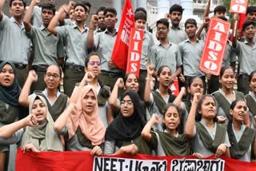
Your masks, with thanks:
M 234 70 L 231 66 L 222 67 L 219 74 L 221 89 L 213 93 L 217 101 L 218 116 L 226 117 L 226 124 L 231 120 L 230 104 L 236 99 L 244 100 L 244 94 L 234 91 Z M 250 117 L 245 117 L 246 125 L 250 125 Z

